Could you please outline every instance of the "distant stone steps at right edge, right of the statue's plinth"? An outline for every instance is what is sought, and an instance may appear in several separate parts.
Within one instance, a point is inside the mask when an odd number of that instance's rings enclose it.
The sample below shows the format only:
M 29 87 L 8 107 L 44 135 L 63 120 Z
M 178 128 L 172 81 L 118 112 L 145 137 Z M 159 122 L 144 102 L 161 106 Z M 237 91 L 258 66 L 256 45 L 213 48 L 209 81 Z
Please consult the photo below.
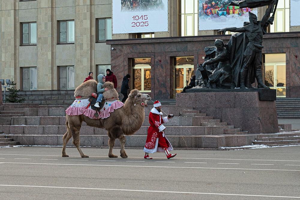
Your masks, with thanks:
M 300 118 L 300 98 L 277 98 L 278 118 Z

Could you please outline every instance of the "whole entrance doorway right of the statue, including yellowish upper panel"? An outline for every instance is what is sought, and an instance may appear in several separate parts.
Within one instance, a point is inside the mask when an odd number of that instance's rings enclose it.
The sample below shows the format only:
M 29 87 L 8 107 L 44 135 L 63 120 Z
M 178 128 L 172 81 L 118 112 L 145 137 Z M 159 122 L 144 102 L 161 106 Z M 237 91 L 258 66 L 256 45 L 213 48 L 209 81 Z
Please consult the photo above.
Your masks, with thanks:
M 276 97 L 286 97 L 286 64 L 284 54 L 265 54 L 265 85 L 276 90 Z

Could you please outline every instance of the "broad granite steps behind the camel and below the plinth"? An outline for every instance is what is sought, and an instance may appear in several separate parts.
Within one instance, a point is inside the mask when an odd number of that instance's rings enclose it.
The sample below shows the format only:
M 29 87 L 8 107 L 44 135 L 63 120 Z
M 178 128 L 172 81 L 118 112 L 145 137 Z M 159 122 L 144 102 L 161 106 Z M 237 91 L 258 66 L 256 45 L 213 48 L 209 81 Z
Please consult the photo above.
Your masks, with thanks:
M 66 132 L 65 109 L 59 106 L 5 105 L 0 112 L 0 120 L 7 120 L 0 126 L 2 139 L 19 141 L 20 145 L 62 145 L 62 136 Z M 152 106 L 145 107 L 145 121 L 133 136 L 126 136 L 126 147 L 144 146 L 149 127 L 148 116 Z M 17 112 L 17 113 L 13 113 Z M 211 148 L 237 147 L 254 144 L 258 134 L 248 134 L 241 128 L 228 125 L 220 119 L 214 119 L 192 108 L 178 108 L 164 105 L 166 113 L 174 114 L 169 123 L 164 124 L 165 133 L 174 148 Z M 6 115 L 10 115 L 7 117 Z M 16 115 L 16 116 L 13 116 Z M 8 120 L 7 118 L 10 118 Z M 9 122 L 8 122 L 9 121 Z M 281 131 L 290 126 L 281 125 Z M 264 134 L 266 136 L 268 134 Z M 274 135 L 275 136 L 275 135 Z M 281 136 L 279 136 L 281 137 Z M 278 140 L 279 141 L 279 140 Z M 2 143 L 4 144 L 4 143 Z M 108 146 L 108 136 L 104 129 L 89 127 L 83 122 L 80 130 L 81 146 Z M 294 144 L 294 143 L 293 143 Z M 15 144 L 10 144 L 15 145 Z M 73 146 L 72 140 L 68 145 Z M 116 147 L 120 146 L 116 140 Z

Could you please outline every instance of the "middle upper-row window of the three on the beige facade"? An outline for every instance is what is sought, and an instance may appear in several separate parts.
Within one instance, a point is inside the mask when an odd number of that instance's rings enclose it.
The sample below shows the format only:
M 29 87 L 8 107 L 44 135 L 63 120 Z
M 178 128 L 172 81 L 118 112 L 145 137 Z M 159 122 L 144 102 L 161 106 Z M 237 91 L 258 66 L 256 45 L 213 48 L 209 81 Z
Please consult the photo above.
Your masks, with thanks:
M 58 21 L 58 43 L 75 42 L 74 20 Z

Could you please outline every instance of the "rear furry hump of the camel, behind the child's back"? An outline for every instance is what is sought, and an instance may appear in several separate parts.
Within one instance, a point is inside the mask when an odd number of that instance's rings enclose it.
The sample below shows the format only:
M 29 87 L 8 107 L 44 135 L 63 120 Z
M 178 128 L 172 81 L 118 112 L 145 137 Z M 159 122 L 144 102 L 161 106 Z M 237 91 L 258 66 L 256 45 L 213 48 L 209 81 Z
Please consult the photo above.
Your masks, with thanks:
M 87 99 L 93 92 L 97 93 L 97 81 L 94 79 L 81 83 L 74 91 L 76 99 Z

